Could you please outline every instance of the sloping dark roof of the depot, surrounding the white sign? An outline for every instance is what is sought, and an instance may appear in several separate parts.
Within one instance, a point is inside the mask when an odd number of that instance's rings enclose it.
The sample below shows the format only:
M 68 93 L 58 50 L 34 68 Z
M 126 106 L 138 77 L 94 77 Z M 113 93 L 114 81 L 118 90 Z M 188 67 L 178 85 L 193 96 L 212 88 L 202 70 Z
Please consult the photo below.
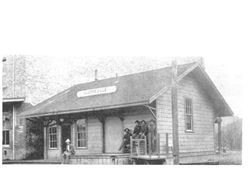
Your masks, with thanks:
M 199 66 L 190 63 L 178 66 L 178 77 Z M 171 85 L 171 67 L 75 85 L 22 114 L 39 117 L 75 112 L 88 112 L 150 104 L 153 96 Z M 116 86 L 109 94 L 78 97 L 79 91 Z

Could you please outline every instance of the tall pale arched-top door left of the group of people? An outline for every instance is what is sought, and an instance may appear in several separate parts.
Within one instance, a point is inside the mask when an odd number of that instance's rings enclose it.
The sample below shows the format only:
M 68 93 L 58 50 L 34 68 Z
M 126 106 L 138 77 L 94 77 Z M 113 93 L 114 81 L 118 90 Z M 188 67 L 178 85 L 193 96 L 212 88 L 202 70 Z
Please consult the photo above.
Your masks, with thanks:
M 107 117 L 105 121 L 105 151 L 117 153 L 122 143 L 122 121 L 118 117 Z

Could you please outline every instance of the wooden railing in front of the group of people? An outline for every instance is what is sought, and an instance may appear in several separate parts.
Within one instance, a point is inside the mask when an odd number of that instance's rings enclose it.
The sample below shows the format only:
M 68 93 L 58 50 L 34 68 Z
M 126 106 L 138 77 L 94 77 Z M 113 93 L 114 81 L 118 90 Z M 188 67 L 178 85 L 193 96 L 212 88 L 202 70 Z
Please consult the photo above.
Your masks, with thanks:
M 160 137 L 165 135 L 165 145 L 161 147 Z M 163 140 L 163 138 L 162 138 Z M 164 148 L 164 149 L 163 149 Z M 168 156 L 169 155 L 169 144 L 168 144 L 168 133 L 158 133 L 155 137 L 152 137 L 151 133 L 143 139 L 130 138 L 130 156 Z

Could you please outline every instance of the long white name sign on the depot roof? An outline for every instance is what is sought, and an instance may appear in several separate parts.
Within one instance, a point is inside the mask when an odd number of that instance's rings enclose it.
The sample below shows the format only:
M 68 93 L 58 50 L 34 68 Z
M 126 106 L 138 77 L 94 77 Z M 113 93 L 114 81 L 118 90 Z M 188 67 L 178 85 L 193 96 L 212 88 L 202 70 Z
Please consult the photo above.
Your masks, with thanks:
M 88 97 L 88 96 L 95 96 L 95 95 L 102 95 L 102 94 L 110 94 L 117 91 L 116 86 L 108 86 L 108 87 L 101 87 L 101 88 L 94 88 L 89 90 L 82 90 L 77 92 L 77 97 Z

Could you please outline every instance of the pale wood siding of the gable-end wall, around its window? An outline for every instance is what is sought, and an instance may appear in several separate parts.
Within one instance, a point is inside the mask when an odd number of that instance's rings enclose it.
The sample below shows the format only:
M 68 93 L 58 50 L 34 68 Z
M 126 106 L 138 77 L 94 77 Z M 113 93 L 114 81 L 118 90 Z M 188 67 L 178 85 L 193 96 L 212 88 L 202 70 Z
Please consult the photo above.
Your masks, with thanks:
M 193 132 L 185 131 L 185 98 L 193 101 Z M 172 141 L 171 90 L 156 100 L 158 133 L 169 133 L 169 146 Z M 214 152 L 215 112 L 206 93 L 191 77 L 185 77 L 178 85 L 178 121 L 180 153 Z M 164 135 L 162 135 L 164 136 Z M 161 138 L 161 151 L 165 148 Z

